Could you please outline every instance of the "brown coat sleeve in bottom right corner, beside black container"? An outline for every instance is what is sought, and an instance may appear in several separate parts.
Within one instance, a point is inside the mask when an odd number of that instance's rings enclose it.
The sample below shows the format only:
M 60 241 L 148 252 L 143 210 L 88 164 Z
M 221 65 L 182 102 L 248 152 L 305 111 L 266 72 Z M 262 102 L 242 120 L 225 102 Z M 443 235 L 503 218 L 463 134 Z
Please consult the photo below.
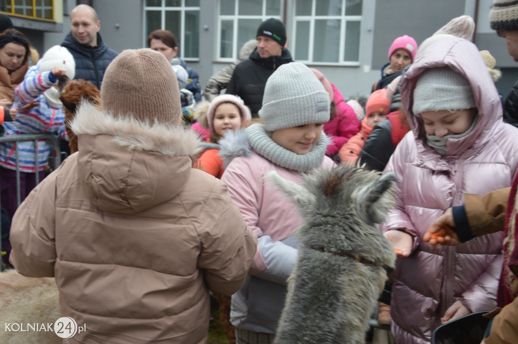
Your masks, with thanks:
M 486 344 L 514 344 L 518 342 L 518 298 L 503 307 L 493 319 Z

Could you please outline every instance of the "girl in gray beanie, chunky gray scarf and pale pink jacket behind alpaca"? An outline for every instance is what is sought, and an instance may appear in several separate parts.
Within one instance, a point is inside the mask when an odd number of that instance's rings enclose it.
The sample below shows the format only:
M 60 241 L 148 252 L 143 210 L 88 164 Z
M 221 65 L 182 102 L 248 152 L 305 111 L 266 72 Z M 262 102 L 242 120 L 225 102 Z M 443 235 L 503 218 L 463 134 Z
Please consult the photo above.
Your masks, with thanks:
M 296 182 L 300 173 L 331 168 L 325 156 L 329 94 L 304 64 L 280 66 L 266 82 L 262 123 L 220 141 L 225 159 L 222 180 L 246 222 L 258 237 L 258 250 L 242 288 L 232 297 L 231 322 L 238 343 L 270 343 L 284 306 L 301 224 L 295 206 L 262 178 L 271 170 Z

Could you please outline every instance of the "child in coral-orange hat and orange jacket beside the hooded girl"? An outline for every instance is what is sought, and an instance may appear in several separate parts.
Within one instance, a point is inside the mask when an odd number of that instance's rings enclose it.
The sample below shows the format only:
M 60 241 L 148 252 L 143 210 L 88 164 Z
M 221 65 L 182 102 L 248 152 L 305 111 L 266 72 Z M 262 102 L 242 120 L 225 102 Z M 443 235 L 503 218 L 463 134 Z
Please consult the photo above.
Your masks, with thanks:
M 376 123 L 387 119 L 390 100 L 386 97 L 386 92 L 386 89 L 381 89 L 370 94 L 367 99 L 367 104 L 365 105 L 366 116 L 362 120 L 362 128 L 359 133 L 351 137 L 338 152 L 342 163 L 356 163 L 359 152 L 362 151 L 365 141 Z

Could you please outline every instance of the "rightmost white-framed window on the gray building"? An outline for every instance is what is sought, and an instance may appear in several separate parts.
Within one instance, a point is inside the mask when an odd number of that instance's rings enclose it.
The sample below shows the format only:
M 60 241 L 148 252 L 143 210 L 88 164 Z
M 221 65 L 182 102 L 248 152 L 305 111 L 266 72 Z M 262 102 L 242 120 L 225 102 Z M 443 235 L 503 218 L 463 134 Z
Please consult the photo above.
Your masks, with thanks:
M 294 56 L 294 59 L 298 62 L 305 63 L 305 64 L 311 64 L 315 66 L 359 66 L 361 61 L 360 51 L 361 51 L 361 32 L 360 32 L 360 44 L 358 45 L 358 61 L 344 61 L 343 55 L 344 55 L 344 47 L 346 45 L 346 24 L 349 21 L 358 21 L 360 23 L 360 26 L 362 24 L 362 18 L 363 18 L 363 9 L 362 9 L 362 16 L 346 16 L 346 2 L 347 0 L 342 0 L 342 12 L 340 16 L 315 16 L 315 9 L 316 9 L 316 1 L 312 0 L 311 4 L 311 16 L 296 16 L 296 0 L 293 1 L 293 40 L 290 40 L 290 46 L 293 45 L 293 54 L 295 54 L 296 51 L 296 44 L 297 44 L 297 22 L 308 22 L 309 21 L 309 47 L 308 47 L 308 57 L 309 60 L 300 60 L 297 59 L 296 56 Z M 362 0 L 362 6 L 364 4 L 365 0 Z M 314 42 L 314 27 L 315 27 L 315 20 L 339 20 L 340 21 L 340 41 L 339 41 L 339 50 L 338 50 L 338 62 L 316 62 L 313 61 L 313 42 Z

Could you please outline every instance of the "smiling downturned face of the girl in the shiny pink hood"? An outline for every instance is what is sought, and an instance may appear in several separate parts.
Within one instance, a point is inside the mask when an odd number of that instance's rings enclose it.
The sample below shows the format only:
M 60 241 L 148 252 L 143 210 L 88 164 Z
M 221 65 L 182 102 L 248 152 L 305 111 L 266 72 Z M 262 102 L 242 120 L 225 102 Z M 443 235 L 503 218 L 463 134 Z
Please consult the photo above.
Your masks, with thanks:
M 425 111 L 421 113 L 424 122 L 424 130 L 428 135 L 443 137 L 465 133 L 475 118 L 476 108 L 441 111 Z

